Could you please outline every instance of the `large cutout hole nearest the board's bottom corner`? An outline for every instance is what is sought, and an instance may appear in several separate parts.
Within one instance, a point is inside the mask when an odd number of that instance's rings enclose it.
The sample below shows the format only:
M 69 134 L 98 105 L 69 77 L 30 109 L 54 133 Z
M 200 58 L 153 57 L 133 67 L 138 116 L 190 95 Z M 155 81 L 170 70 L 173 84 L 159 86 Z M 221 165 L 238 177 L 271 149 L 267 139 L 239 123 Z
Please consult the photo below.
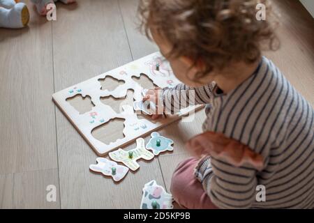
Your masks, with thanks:
M 110 142 L 117 141 L 117 139 L 123 139 L 125 137 L 123 133 L 124 121 L 124 118 L 111 119 L 107 123 L 103 123 L 103 125 L 99 125 L 91 130 L 91 135 L 107 145 Z

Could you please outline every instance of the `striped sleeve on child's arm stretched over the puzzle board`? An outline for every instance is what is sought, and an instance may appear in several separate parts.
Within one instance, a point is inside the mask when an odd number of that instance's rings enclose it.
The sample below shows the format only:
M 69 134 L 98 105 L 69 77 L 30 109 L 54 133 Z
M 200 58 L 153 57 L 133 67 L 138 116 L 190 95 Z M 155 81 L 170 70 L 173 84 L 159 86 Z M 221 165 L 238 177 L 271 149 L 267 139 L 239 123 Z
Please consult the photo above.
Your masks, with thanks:
M 205 105 L 211 102 L 215 83 L 202 87 L 190 87 L 177 84 L 174 88 L 165 88 L 162 92 L 166 114 L 177 114 L 180 109 L 190 105 Z

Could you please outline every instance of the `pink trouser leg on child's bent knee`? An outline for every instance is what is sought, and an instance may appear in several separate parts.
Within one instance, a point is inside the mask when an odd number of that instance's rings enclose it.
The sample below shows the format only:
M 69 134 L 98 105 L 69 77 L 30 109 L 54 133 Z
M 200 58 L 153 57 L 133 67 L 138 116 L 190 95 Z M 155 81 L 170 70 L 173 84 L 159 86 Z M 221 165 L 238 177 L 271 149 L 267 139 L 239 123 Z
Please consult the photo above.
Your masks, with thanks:
M 197 159 L 190 157 L 175 169 L 170 187 L 172 196 L 182 208 L 216 209 L 217 207 L 211 202 L 202 184 L 194 176 L 197 162 Z

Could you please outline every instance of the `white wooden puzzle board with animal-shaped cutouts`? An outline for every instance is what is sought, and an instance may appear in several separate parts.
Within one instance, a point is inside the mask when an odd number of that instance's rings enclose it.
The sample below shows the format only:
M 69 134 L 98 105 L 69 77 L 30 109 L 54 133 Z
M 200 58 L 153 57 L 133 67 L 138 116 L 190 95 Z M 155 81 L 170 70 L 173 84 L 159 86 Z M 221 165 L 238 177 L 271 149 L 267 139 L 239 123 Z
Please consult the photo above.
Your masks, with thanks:
M 156 68 L 156 66 L 158 66 L 158 68 Z M 143 88 L 134 80 L 134 77 L 140 77 L 142 74 L 147 75 L 147 77 L 160 88 L 173 87 L 180 83 L 174 76 L 169 63 L 165 61 L 159 52 L 156 52 L 54 93 L 52 99 L 94 151 L 96 151 L 98 155 L 106 155 L 108 152 L 129 144 L 138 137 L 149 134 L 169 123 L 177 121 L 181 116 L 187 115 L 201 107 L 193 106 L 181 109 L 179 116 L 160 118 L 158 121 L 152 122 L 150 118 L 137 118 L 137 114 L 133 110 L 133 105 L 123 105 L 121 111 L 117 112 L 114 111 L 110 105 L 105 105 L 100 100 L 110 95 L 114 98 L 125 98 L 128 90 L 133 90 L 134 100 L 141 100 Z M 100 83 L 100 80 L 106 77 L 113 77 L 124 83 L 117 86 L 116 89 L 109 91 L 108 89 L 103 89 Z M 92 107 L 89 112 L 80 114 L 80 112 L 67 101 L 67 99 L 73 98 L 75 95 L 82 95 L 82 98 L 89 97 L 94 107 Z M 93 130 L 100 125 L 109 123 L 114 120 L 114 118 L 124 120 L 123 138 L 105 144 L 103 141 L 93 137 L 91 134 Z M 112 128 L 104 137 L 110 137 L 111 134 L 114 134 L 114 131 L 117 130 Z

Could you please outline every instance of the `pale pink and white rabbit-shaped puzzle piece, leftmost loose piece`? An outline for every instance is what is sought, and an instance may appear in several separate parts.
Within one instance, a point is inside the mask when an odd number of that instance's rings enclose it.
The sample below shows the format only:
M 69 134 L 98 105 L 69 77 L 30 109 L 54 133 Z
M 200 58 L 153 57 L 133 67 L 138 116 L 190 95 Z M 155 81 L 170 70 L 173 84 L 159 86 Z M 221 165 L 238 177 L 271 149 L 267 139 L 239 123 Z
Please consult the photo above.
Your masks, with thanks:
M 89 165 L 91 171 L 99 172 L 105 176 L 111 176 L 114 181 L 120 181 L 128 174 L 128 167 L 118 165 L 117 162 L 113 162 L 103 157 L 96 158 L 97 164 Z

